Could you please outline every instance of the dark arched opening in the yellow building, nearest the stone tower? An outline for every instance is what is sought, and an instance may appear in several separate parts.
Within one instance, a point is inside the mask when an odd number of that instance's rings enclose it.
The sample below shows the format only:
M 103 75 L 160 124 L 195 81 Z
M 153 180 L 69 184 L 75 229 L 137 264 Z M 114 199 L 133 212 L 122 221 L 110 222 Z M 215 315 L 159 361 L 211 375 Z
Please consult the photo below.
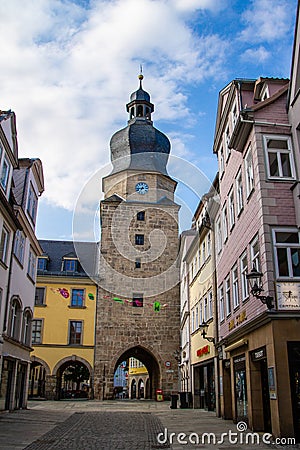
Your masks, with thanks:
M 67 378 L 71 369 L 73 374 L 78 374 L 76 381 Z M 54 366 L 52 376 L 56 379 L 55 400 L 93 397 L 93 369 L 84 358 L 72 355 L 61 359 Z

